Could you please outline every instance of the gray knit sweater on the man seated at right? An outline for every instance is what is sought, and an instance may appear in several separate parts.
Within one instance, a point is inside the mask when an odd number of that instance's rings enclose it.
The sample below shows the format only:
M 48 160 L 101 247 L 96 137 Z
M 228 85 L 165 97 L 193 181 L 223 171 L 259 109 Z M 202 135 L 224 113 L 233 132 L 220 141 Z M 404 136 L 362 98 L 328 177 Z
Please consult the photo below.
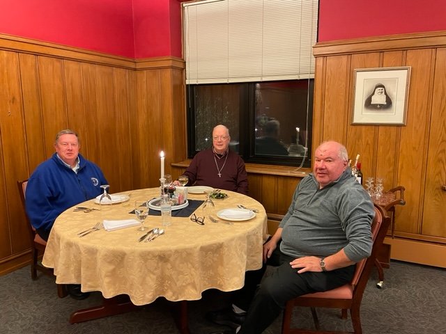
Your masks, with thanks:
M 344 248 L 347 257 L 358 262 L 371 253 L 374 215 L 370 196 L 350 168 L 323 189 L 310 174 L 298 184 L 279 224 L 280 250 L 292 257 L 327 257 Z

